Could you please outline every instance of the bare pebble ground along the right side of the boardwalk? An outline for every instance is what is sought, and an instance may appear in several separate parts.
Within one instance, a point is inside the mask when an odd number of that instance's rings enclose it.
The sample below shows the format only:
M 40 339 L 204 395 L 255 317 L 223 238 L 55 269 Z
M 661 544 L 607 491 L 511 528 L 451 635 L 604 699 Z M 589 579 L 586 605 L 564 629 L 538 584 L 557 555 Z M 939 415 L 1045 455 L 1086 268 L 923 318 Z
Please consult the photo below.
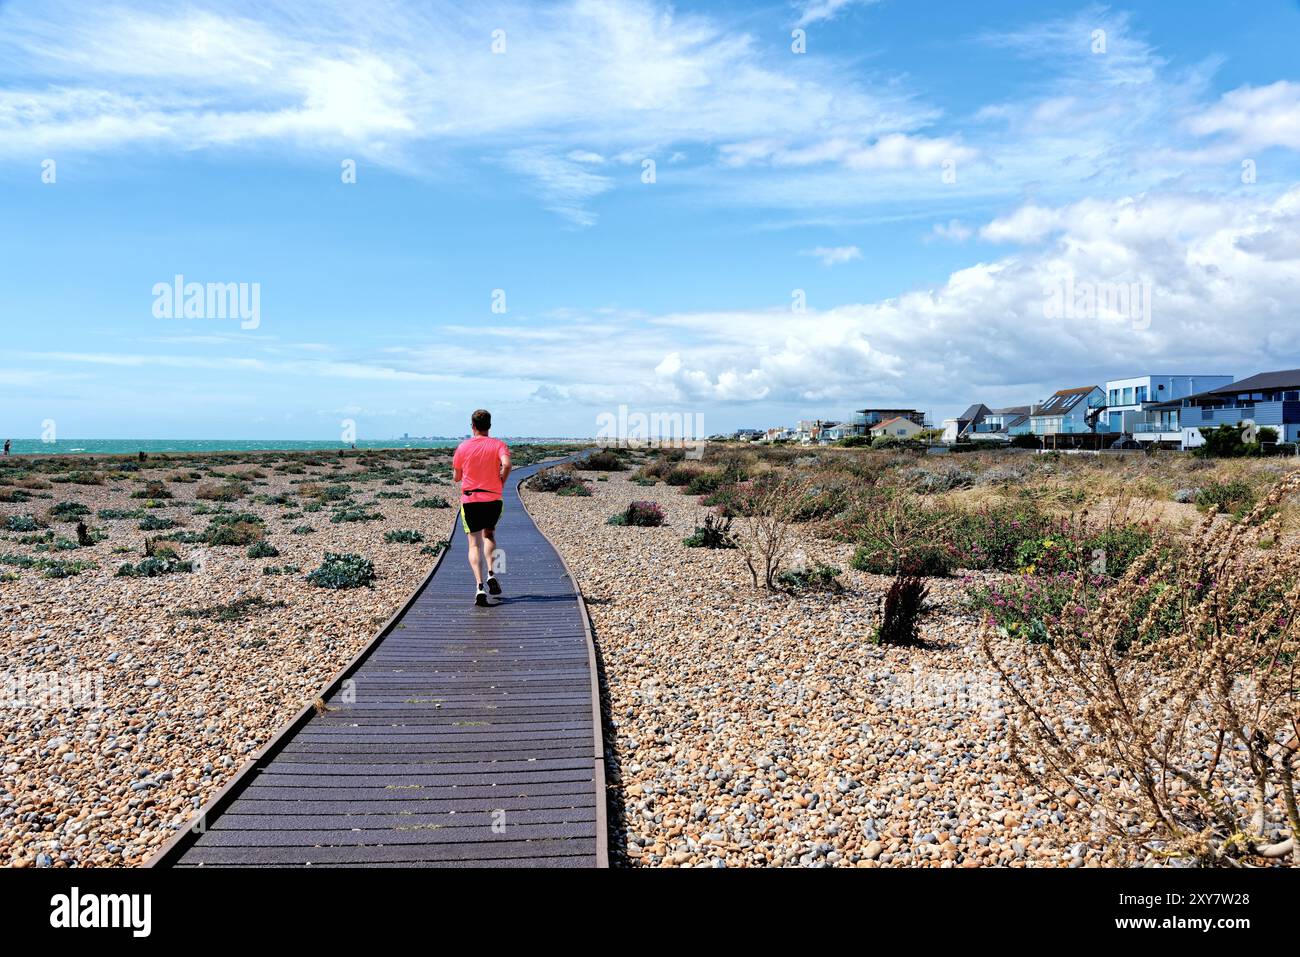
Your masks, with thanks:
M 1072 797 L 1017 781 L 959 579 L 931 580 L 924 648 L 880 646 L 888 579 L 850 570 L 850 547 L 800 544 L 846 570 L 844 593 L 766 594 L 734 550 L 682 545 L 697 497 L 580 475 L 590 497 L 524 494 L 580 580 L 602 657 L 616 865 L 1102 863 Z M 606 524 L 632 501 L 663 507 L 664 525 Z

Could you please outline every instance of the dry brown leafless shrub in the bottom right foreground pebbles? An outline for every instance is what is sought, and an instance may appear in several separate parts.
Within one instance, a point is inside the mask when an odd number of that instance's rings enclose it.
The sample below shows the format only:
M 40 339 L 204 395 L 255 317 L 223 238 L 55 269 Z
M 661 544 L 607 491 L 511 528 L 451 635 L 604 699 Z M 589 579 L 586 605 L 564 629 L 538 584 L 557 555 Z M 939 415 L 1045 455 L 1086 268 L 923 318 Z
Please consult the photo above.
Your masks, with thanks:
M 1278 538 L 1278 482 L 1242 521 L 1208 516 L 1154 546 L 1050 644 L 980 644 L 1013 701 L 1013 755 L 1072 793 L 1118 845 L 1157 858 L 1300 866 L 1300 547 Z

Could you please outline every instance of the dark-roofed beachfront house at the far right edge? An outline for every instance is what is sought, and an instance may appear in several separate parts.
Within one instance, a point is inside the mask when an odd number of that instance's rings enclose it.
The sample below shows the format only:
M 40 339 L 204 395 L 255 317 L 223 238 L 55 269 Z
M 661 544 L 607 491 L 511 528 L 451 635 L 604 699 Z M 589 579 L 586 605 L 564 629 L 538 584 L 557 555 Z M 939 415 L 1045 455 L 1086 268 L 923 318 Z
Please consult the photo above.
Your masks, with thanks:
M 1270 426 L 1279 442 L 1300 441 L 1300 369 L 1261 372 L 1169 402 L 1150 403 L 1134 423 L 1139 442 L 1195 449 L 1200 430 L 1219 425 Z

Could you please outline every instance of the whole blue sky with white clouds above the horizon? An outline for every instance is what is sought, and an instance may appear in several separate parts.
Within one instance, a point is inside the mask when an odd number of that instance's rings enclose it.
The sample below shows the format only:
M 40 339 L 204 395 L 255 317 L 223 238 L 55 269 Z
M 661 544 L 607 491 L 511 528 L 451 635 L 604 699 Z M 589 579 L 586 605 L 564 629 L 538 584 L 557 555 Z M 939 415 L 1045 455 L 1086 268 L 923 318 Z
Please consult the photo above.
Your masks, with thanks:
M 0 432 L 720 432 L 1292 368 L 1297 36 L 1283 0 L 0 3 Z M 257 283 L 256 328 L 157 317 L 176 274 Z M 1067 281 L 1149 316 L 1045 317 Z

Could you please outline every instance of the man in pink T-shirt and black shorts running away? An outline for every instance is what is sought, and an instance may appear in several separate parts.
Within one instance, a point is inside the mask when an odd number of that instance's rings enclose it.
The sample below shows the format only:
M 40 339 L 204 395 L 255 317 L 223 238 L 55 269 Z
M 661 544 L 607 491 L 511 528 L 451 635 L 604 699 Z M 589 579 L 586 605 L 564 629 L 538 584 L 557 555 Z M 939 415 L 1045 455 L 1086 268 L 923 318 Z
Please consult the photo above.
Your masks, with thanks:
M 473 437 L 467 438 L 451 456 L 452 480 L 460 482 L 460 525 L 469 542 L 469 567 L 474 570 L 474 605 L 488 605 L 488 592 L 500 594 L 500 583 L 493 572 L 497 551 L 497 520 L 500 519 L 502 489 L 510 475 L 510 446 L 488 433 L 491 412 L 480 408 L 469 416 Z M 480 563 L 482 567 L 480 568 Z M 486 571 L 488 592 L 484 592 Z

